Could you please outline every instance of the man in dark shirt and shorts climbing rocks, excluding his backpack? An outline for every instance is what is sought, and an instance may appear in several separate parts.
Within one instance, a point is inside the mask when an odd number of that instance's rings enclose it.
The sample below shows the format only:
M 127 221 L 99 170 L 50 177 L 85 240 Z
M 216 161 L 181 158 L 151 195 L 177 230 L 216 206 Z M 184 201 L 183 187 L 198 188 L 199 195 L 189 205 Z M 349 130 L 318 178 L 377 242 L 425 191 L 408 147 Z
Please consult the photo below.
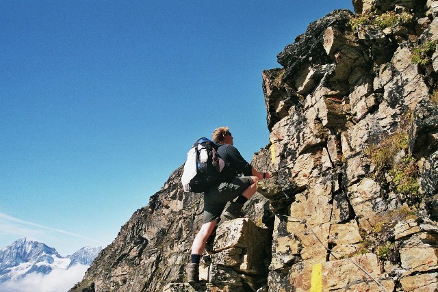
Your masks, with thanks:
M 233 146 L 233 136 L 228 127 L 214 130 L 211 136 L 219 145 L 218 155 L 225 162 L 225 167 L 220 172 L 219 183 L 204 193 L 203 225 L 194 238 L 191 263 L 186 267 L 190 283 L 199 280 L 199 263 L 205 244 L 219 223 L 227 202 L 231 201 L 231 204 L 224 211 L 225 218 L 231 220 L 243 217 L 242 207 L 257 191 L 257 181 L 270 178 L 269 172 L 258 172 L 240 155 L 239 150 Z

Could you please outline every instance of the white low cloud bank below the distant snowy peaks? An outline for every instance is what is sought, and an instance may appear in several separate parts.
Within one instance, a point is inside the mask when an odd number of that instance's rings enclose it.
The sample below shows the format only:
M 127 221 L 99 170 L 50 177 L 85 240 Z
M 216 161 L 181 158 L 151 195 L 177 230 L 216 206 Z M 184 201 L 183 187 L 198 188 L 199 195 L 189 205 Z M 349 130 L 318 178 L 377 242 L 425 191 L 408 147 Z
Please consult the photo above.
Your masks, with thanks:
M 0 284 L 3 292 L 60 292 L 68 291 L 81 281 L 87 271 L 86 265 L 75 265 L 70 269 L 54 269 L 47 275 L 32 273 L 16 281 Z

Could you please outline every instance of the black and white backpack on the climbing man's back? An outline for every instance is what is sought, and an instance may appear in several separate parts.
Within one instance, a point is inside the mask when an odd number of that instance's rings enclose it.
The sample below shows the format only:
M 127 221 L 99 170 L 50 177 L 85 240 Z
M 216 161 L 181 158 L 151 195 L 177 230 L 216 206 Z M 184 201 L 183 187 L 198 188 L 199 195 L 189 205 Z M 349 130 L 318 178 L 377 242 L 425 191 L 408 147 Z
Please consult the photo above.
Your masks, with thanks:
M 218 181 L 225 163 L 217 150 L 218 145 L 205 137 L 196 141 L 190 148 L 181 176 L 185 192 L 201 193 Z

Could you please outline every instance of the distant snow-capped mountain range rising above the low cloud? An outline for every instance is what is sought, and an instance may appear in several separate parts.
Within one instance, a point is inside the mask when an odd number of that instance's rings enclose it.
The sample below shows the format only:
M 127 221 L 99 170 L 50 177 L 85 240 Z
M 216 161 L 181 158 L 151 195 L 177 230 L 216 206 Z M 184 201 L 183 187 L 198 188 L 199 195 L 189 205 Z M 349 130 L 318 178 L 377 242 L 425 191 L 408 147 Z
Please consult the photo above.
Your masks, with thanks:
M 71 256 L 60 256 L 55 248 L 27 238 L 0 250 L 0 283 L 20 280 L 31 273 L 49 274 L 55 269 L 90 265 L 102 248 L 81 248 Z

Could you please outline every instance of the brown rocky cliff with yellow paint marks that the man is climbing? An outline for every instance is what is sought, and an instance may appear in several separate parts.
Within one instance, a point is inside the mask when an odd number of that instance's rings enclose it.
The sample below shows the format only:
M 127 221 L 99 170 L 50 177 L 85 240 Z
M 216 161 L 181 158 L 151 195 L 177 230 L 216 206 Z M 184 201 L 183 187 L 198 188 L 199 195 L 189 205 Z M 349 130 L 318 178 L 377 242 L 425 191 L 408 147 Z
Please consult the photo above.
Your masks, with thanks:
M 437 291 L 438 1 L 354 0 L 263 72 L 272 178 L 184 283 L 202 194 L 182 168 L 70 291 Z

